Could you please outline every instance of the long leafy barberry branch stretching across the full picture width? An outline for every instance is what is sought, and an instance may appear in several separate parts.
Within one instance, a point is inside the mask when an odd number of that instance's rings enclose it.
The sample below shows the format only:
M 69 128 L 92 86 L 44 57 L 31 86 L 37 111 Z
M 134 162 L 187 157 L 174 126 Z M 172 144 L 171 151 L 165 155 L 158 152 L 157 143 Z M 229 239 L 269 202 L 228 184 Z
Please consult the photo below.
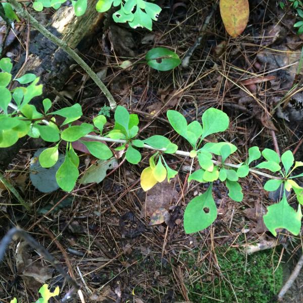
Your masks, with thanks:
M 29 136 L 41 137 L 49 142 L 38 157 L 43 168 L 55 166 L 59 160 L 59 148 L 64 150 L 64 160 L 56 173 L 56 180 L 60 188 L 72 191 L 79 177 L 80 159 L 74 150 L 73 143 L 78 141 L 85 145 L 89 153 L 100 161 L 110 161 L 114 158 L 113 151 L 120 151 L 125 160 L 137 165 L 141 161 L 141 148 L 151 150 L 149 166 L 141 173 L 141 186 L 149 190 L 158 182 L 174 178 L 178 171 L 169 165 L 172 155 L 197 159 L 199 169 L 193 171 L 188 182 L 205 183 L 208 189 L 205 193 L 194 197 L 187 205 L 184 213 L 184 228 L 186 233 L 193 233 L 209 227 L 217 218 L 217 207 L 214 201 L 213 183 L 220 180 L 228 188 L 231 199 L 240 202 L 243 199 L 240 178 L 246 177 L 249 172 L 262 175 L 269 180 L 265 183 L 267 191 L 281 190 L 282 199 L 279 203 L 268 207 L 264 222 L 272 234 L 277 235 L 276 229 L 285 228 L 297 235 L 301 227 L 301 208 L 303 204 L 303 188 L 295 179 L 303 177 L 302 173 L 295 174 L 303 162 L 294 161 L 290 150 L 279 157 L 272 149 L 260 151 L 258 146 L 248 149 L 248 158 L 245 162 L 231 164 L 230 156 L 237 147 L 229 142 L 207 142 L 205 138 L 218 132 L 227 130 L 228 116 L 215 108 L 206 110 L 199 121 L 187 123 L 185 117 L 169 110 L 167 118 L 173 129 L 183 137 L 191 150 L 181 151 L 171 140 L 162 135 L 153 135 L 139 139 L 139 119 L 136 114 L 129 114 L 126 108 L 118 106 L 114 114 L 114 127 L 108 129 L 104 115 L 97 115 L 92 123 L 80 122 L 82 110 L 79 104 L 52 111 L 50 99 L 41 100 L 43 110 L 39 112 L 34 105 L 29 104 L 33 97 L 42 94 L 42 85 L 39 78 L 33 74 L 25 74 L 14 81 L 22 85 L 10 90 L 12 63 L 10 59 L 0 60 L 0 147 L 8 147 L 19 138 Z M 110 148 L 106 142 L 116 143 L 119 146 Z M 261 156 L 264 161 L 256 163 Z M 267 170 L 274 175 L 267 174 Z M 84 172 L 85 175 L 85 172 Z M 293 191 L 298 201 L 296 210 L 288 204 L 286 192 Z

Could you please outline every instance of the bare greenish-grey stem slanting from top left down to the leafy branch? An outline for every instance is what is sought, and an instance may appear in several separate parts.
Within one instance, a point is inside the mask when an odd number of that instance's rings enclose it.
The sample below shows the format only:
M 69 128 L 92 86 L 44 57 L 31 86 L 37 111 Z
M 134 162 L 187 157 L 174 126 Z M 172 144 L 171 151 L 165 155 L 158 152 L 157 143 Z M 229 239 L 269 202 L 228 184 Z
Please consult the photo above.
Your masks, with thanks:
M 51 40 L 59 47 L 61 47 L 70 57 L 72 57 L 82 68 L 83 70 L 90 76 L 90 78 L 98 85 L 98 87 L 103 91 L 107 99 L 109 100 L 110 107 L 114 110 L 117 105 L 114 97 L 107 89 L 105 84 L 98 78 L 98 76 L 92 71 L 92 69 L 83 61 L 83 59 L 71 48 L 67 45 L 67 43 L 63 42 L 61 39 L 57 38 L 54 34 L 49 32 L 43 25 L 41 25 L 33 16 L 31 16 L 26 10 L 23 9 L 22 5 L 17 2 L 17 0 L 8 0 L 8 2 L 15 9 L 16 13 L 22 18 L 29 20 L 31 25 L 38 30 L 43 36 L 47 39 Z

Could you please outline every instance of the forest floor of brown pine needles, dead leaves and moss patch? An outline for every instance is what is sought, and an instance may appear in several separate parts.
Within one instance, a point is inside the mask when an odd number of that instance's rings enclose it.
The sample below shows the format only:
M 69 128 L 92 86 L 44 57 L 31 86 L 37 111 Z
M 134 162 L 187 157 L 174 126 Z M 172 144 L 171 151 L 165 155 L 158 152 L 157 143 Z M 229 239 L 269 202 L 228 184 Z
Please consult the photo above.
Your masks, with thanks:
M 230 38 L 218 8 L 207 31 L 201 32 L 215 4 L 184 1 L 181 15 L 176 16 L 168 1 L 162 1 L 163 11 L 152 32 L 107 21 L 82 57 L 102 77 L 117 104 L 139 116 L 139 138 L 166 135 L 179 149 L 188 150 L 169 126 L 166 111 L 178 110 L 190 122 L 215 107 L 229 115 L 230 126 L 211 139 L 238 147 L 233 163 L 244 162 L 248 148 L 255 145 L 280 154 L 291 149 L 302 161 L 303 95 L 298 91 L 285 99 L 303 45 L 293 28 L 295 11 L 282 10 L 276 1 L 251 0 L 247 28 L 240 37 Z M 143 62 L 146 52 L 156 46 L 168 47 L 183 58 L 200 35 L 201 45 L 188 68 L 158 72 Z M 122 69 L 125 61 L 131 65 Z M 109 112 L 105 96 L 80 68 L 66 83 L 66 91 L 88 119 L 100 110 Z M 113 123 L 113 113 L 109 116 Z M 300 257 L 300 236 L 281 231 L 277 239 L 266 229 L 262 216 L 275 197 L 263 190 L 266 178 L 257 175 L 243 179 L 241 203 L 215 183 L 217 220 L 204 231 L 185 234 L 184 208 L 205 187 L 187 183 L 191 159 L 174 157 L 171 165 L 180 174 L 170 184 L 163 182 L 144 192 L 139 178 L 151 155 L 146 150 L 138 166 L 125 162 L 99 184 L 65 197 L 59 208 L 45 215 L 66 193 L 44 194 L 31 184 L 29 166 L 38 147 L 43 142 L 27 142 L 6 172 L 24 199 L 31 201 L 32 211 L 10 206 L 13 197 L 3 189 L 0 235 L 16 225 L 30 232 L 77 279 L 85 302 L 275 302 Z M 82 172 L 94 161 L 83 155 Z M 159 208 L 169 212 L 167 224 L 150 225 L 150 216 Z M 258 243 L 274 248 L 247 255 L 245 245 Z M 34 301 L 41 286 L 37 279 L 59 285 L 62 296 L 67 293 L 70 285 L 35 251 L 24 245 L 18 249 L 19 262 L 21 258 L 34 263 L 28 273 L 18 273 L 16 243 L 10 245 L 0 265 L 1 302 L 10 302 L 12 294 L 20 302 Z M 300 275 L 284 301 L 303 302 L 302 285 Z

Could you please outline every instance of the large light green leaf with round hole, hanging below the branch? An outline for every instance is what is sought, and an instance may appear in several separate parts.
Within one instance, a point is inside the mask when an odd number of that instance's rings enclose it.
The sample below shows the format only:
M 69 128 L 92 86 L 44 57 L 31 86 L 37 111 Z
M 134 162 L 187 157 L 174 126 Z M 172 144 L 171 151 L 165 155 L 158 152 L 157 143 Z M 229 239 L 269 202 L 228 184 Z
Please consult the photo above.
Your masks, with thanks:
M 207 191 L 193 198 L 186 206 L 184 229 L 193 233 L 209 227 L 217 218 L 217 207 L 212 194 L 213 184 Z

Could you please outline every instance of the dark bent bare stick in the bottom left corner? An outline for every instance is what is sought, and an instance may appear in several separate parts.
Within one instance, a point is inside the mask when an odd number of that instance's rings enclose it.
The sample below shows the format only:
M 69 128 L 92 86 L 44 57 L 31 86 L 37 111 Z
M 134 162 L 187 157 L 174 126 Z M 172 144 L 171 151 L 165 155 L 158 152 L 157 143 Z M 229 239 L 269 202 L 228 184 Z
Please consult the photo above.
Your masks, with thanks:
M 70 299 L 72 295 L 80 289 L 79 284 L 71 278 L 66 272 L 65 269 L 59 264 L 59 262 L 51 255 L 49 254 L 48 250 L 45 249 L 42 245 L 40 245 L 31 235 L 29 235 L 26 231 L 14 227 L 8 231 L 8 233 L 3 237 L 3 239 L 0 242 L 0 262 L 2 261 L 7 246 L 10 244 L 12 238 L 14 235 L 17 235 L 21 238 L 23 238 L 31 247 L 33 247 L 38 254 L 44 256 L 44 258 L 51 263 L 56 270 L 69 281 L 73 287 L 72 289 L 64 296 L 62 299 L 62 302 L 65 302 L 66 300 Z

